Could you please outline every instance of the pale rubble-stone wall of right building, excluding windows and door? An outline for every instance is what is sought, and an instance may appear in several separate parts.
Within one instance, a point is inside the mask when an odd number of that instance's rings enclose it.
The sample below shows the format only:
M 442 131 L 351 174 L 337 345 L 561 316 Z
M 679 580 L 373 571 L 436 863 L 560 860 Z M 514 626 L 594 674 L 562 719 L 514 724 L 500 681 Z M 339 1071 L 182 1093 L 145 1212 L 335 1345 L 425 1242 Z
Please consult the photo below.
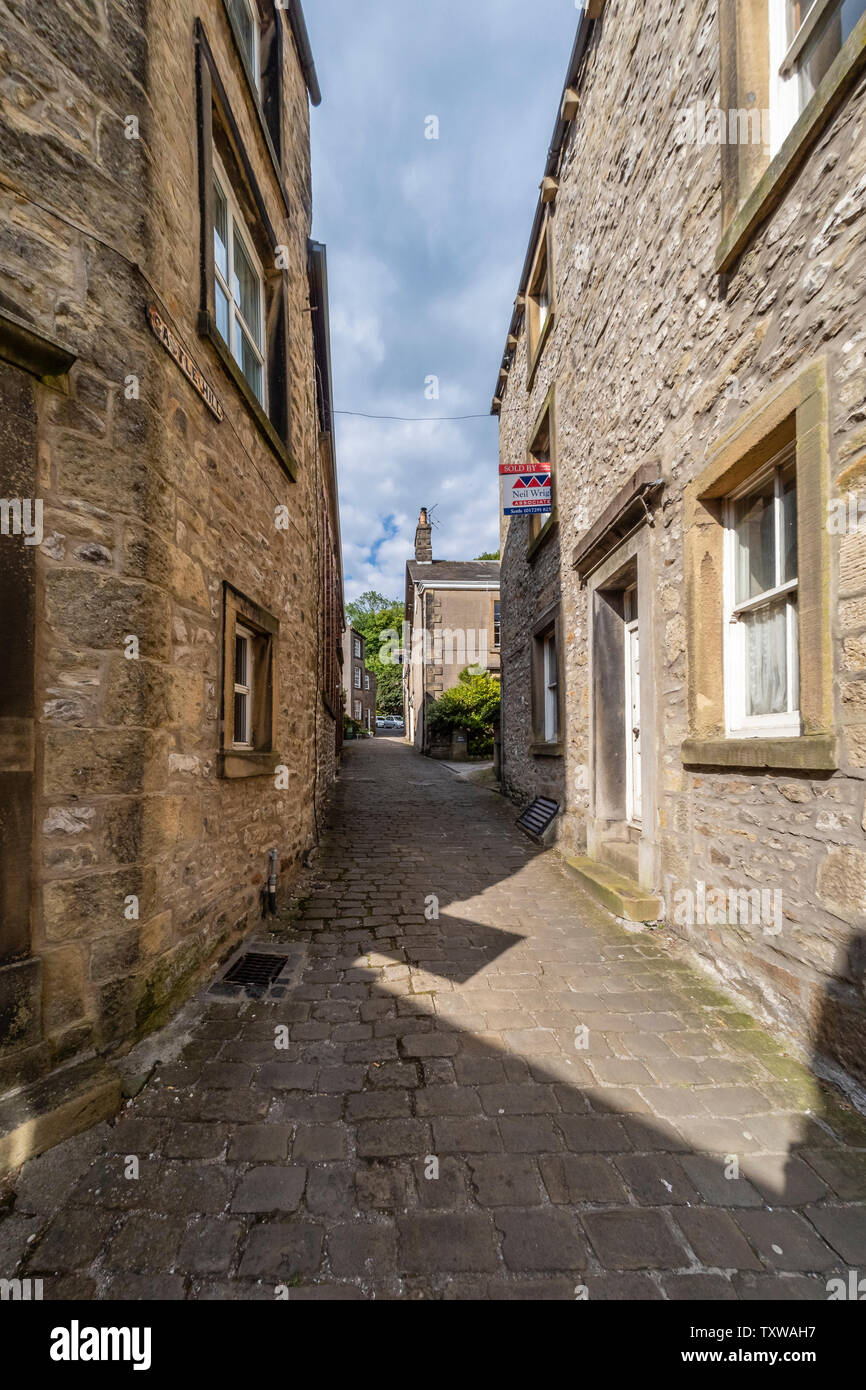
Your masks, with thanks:
M 564 54 L 563 54 L 564 60 Z M 559 523 L 534 556 L 527 525 L 502 527 L 506 780 L 528 799 L 559 784 L 560 842 L 582 851 L 591 817 L 587 589 L 571 552 L 645 463 L 664 477 L 651 532 L 657 653 L 656 887 L 780 888 L 778 935 L 683 930 L 706 962 L 806 1047 L 866 1074 L 866 537 L 831 537 L 833 774 L 689 770 L 684 575 L 685 486 L 766 393 L 824 359 L 828 484 L 866 493 L 866 103 L 848 95 L 777 208 L 720 278 L 721 158 L 684 143 L 677 114 L 720 99 L 713 0 L 651 11 L 607 0 L 581 75 L 550 211 L 556 314 L 531 389 L 527 335 L 500 411 L 502 461 L 525 459 L 556 386 Z M 539 150 L 539 163 L 544 158 Z M 528 753 L 528 632 L 562 595 L 564 756 Z M 720 673 L 721 678 L 721 673 Z M 649 749 L 646 751 L 649 753 Z

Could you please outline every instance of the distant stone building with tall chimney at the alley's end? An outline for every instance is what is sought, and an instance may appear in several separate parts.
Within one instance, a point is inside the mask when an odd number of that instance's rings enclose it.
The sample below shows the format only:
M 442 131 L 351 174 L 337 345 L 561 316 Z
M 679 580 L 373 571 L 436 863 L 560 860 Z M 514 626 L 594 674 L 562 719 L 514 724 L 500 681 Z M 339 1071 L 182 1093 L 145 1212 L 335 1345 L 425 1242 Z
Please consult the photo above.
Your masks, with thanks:
M 434 560 L 427 507 L 414 549 L 406 562 L 403 706 L 407 737 L 427 752 L 427 705 L 467 666 L 499 674 L 499 560 Z

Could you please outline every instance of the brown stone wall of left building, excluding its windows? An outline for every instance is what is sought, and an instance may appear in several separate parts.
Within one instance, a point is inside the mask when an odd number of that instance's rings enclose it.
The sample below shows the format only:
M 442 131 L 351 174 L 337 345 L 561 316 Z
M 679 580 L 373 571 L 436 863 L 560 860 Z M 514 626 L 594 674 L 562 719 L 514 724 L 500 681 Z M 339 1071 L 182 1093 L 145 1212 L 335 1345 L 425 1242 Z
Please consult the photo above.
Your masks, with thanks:
M 196 17 L 288 247 L 296 482 L 197 332 Z M 76 359 L 65 386 L 35 386 L 44 539 L 29 927 L 42 1030 L 26 1045 L 0 1040 L 11 1084 L 161 1022 L 257 920 L 271 845 L 281 891 L 291 881 L 314 840 L 320 563 L 309 107 L 288 28 L 288 218 L 221 0 L 4 0 L 0 33 L 0 310 Z M 222 421 L 150 332 L 154 297 Z M 218 776 L 225 582 L 279 621 L 281 790 L 272 773 Z M 325 726 L 320 792 L 334 771 Z

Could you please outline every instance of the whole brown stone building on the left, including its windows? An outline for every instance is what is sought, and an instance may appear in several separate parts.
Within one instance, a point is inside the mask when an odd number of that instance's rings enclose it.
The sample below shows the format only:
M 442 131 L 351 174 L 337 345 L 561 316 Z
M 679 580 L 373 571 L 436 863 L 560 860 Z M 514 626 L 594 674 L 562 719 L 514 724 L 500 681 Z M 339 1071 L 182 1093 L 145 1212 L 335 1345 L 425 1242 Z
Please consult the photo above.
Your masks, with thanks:
M 115 1104 L 104 1059 L 256 923 L 268 849 L 282 891 L 314 844 L 342 592 L 297 0 L 0 24 L 14 1163 Z

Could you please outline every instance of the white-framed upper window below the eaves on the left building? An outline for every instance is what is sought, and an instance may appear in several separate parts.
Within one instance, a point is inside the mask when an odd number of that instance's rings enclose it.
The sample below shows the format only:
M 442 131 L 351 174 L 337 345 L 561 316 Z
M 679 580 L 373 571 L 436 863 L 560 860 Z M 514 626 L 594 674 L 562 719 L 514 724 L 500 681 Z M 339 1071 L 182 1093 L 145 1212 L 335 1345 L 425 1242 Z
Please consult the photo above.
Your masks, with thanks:
M 264 272 L 225 170 L 214 154 L 214 300 L 220 336 L 267 409 Z

